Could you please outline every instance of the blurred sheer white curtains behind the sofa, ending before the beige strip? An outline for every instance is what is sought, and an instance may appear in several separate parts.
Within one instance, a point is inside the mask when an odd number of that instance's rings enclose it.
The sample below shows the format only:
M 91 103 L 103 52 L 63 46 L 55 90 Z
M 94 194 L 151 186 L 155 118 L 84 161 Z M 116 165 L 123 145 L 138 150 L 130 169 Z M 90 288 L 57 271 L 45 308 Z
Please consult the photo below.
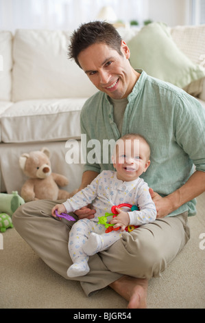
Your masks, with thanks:
M 102 7 L 110 6 L 124 23 L 147 17 L 147 0 L 0 0 L 0 30 L 73 30 L 80 23 L 97 19 Z M 147 8 L 147 7 L 146 7 Z

